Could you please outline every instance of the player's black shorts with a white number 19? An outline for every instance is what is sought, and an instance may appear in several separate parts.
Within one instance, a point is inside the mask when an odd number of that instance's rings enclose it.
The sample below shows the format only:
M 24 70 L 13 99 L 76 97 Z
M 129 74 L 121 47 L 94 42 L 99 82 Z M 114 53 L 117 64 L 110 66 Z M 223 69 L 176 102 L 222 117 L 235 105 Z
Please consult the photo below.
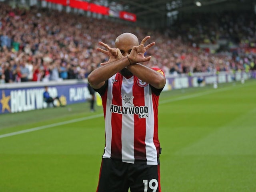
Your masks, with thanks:
M 96 192 L 161 192 L 160 165 L 130 164 L 102 158 Z

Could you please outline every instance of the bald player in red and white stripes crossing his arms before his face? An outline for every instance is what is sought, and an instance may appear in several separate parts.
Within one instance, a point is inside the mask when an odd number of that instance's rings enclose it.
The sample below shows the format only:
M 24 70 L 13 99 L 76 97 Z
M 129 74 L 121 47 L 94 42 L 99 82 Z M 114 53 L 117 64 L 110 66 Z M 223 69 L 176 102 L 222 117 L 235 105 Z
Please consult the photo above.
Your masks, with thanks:
M 88 76 L 102 97 L 106 145 L 97 192 L 161 192 L 161 153 L 158 140 L 158 99 L 166 79 L 159 68 L 142 65 L 150 61 L 144 46 L 131 33 L 116 38 L 116 48 L 99 42 L 109 56 Z

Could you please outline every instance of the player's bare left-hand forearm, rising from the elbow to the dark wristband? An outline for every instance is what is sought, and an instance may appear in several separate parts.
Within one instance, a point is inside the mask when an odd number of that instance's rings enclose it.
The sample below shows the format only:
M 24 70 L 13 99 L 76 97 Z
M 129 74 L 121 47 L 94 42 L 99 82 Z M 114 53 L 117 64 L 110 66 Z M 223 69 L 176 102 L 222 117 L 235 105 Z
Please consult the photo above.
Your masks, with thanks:
M 88 82 L 92 86 L 92 88 L 100 88 L 104 85 L 104 82 L 116 74 L 118 71 L 122 70 L 126 66 L 130 64 L 127 57 L 124 57 L 120 60 L 116 60 L 96 70 L 92 71 L 88 76 Z

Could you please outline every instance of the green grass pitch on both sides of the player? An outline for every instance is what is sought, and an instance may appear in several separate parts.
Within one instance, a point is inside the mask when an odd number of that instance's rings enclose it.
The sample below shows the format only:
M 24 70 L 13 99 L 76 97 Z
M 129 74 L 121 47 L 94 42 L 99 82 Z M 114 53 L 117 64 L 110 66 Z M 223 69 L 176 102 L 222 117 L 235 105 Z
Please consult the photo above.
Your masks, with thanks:
M 163 92 L 159 138 L 163 192 L 255 191 L 256 80 Z M 104 144 L 89 103 L 2 114 L 0 192 L 96 191 Z

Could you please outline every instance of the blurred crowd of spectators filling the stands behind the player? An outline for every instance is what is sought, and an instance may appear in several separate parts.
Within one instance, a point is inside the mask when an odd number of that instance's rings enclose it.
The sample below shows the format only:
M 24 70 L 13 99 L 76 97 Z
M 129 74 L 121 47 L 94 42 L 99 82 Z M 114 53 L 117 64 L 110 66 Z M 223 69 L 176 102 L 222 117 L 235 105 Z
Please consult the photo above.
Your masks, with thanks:
M 150 35 L 149 42 L 156 45 L 146 53 L 153 56 L 146 65 L 166 74 L 256 69 L 251 44 L 256 42 L 255 14 L 220 15 L 212 22 L 194 19 L 157 31 L 36 7 L 13 9 L 4 3 L 0 13 L 0 83 L 86 78 L 92 66 L 108 59 L 96 51 L 98 42 L 114 47 L 124 32 L 139 40 Z M 238 47 L 214 53 L 199 48 L 221 38 Z

